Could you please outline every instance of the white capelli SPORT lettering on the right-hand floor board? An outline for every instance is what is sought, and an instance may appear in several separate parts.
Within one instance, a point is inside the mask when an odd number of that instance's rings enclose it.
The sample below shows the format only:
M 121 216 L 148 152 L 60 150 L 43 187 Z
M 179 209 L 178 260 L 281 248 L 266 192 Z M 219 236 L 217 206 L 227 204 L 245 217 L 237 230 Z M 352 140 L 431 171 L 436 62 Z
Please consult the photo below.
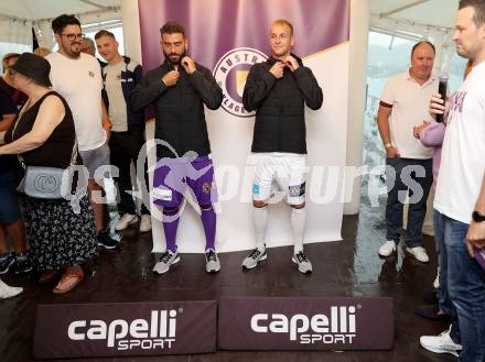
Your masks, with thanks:
M 356 337 L 356 310 L 360 306 L 330 308 L 330 315 L 256 314 L 251 329 L 256 333 L 282 333 L 300 344 L 352 344 Z

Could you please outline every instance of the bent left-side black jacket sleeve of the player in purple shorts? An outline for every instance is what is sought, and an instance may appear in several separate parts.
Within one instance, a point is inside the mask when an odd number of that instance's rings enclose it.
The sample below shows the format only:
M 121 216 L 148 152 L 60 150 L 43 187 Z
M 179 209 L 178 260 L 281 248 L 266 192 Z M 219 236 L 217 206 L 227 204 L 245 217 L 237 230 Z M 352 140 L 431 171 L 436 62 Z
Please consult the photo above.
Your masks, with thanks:
M 147 74 L 128 96 L 128 103 L 134 112 L 153 103 L 165 90 L 165 84 L 157 74 Z

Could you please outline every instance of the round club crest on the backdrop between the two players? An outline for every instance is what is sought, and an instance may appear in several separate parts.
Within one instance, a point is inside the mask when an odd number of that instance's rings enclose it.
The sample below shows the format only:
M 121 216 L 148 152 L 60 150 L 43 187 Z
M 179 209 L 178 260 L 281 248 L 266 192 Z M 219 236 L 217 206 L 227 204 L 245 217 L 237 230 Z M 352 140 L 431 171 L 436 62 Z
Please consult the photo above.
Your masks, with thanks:
M 224 54 L 214 68 L 214 78 L 223 88 L 223 109 L 237 117 L 251 117 L 255 112 L 248 112 L 242 106 L 242 91 L 249 68 L 265 62 L 268 56 L 250 47 L 237 47 Z

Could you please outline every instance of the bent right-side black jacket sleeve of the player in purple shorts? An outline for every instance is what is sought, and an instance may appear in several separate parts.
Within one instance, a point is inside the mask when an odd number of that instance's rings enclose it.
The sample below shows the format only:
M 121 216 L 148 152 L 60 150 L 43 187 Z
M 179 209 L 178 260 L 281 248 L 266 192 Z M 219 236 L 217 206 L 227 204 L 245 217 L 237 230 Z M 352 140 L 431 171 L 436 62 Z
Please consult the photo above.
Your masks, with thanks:
M 208 109 L 217 109 L 223 102 L 223 89 L 217 85 L 211 72 L 197 66 L 197 69 L 188 77 L 191 85 L 197 90 L 202 101 Z

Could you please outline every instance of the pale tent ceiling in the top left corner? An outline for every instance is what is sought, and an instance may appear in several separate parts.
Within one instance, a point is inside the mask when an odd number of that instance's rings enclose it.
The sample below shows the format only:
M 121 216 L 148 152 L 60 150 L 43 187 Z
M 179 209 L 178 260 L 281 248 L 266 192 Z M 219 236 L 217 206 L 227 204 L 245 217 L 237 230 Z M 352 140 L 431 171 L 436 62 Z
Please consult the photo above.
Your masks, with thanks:
M 82 14 L 109 10 L 121 0 L 14 0 L 0 1 L 0 14 L 28 20 L 52 19 L 62 13 Z

